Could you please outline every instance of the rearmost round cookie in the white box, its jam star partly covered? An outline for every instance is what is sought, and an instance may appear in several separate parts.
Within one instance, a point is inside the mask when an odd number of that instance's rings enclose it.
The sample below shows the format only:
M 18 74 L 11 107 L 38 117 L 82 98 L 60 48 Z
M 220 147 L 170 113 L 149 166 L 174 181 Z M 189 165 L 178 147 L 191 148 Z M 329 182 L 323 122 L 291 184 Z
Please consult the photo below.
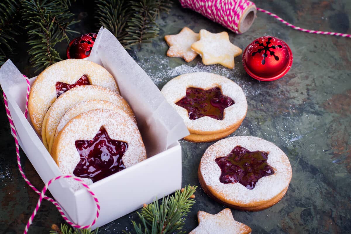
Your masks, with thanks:
M 80 85 L 98 85 L 119 93 L 113 76 L 97 63 L 67 59 L 49 66 L 35 79 L 29 93 L 28 112 L 39 134 L 52 103 L 67 90 Z

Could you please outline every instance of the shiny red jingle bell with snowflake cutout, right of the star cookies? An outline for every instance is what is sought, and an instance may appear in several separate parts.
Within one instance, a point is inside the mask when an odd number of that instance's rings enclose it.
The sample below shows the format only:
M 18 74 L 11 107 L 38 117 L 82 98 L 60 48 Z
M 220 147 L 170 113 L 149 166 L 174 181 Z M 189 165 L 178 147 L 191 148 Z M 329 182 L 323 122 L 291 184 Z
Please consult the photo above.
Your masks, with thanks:
M 278 38 L 262 36 L 246 47 L 243 65 L 245 71 L 257 80 L 277 80 L 291 68 L 291 49 Z

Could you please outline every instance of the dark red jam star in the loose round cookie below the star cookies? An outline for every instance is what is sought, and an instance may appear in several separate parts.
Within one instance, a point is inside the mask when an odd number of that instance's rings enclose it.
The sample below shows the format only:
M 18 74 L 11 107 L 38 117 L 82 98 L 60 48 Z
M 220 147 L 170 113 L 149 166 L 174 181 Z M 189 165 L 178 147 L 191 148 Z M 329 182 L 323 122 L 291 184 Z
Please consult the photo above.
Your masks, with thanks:
M 233 99 L 223 95 L 219 87 L 207 90 L 187 88 L 185 97 L 176 103 L 188 111 L 191 120 L 204 116 L 223 120 L 224 109 L 233 104 Z

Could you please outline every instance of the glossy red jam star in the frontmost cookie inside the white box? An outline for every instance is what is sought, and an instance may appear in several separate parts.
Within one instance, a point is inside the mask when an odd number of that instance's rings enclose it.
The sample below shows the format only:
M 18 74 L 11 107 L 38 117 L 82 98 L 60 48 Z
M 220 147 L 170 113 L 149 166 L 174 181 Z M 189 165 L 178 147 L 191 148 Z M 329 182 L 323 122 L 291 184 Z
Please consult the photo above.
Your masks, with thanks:
M 122 156 L 128 149 L 128 143 L 112 140 L 104 127 L 93 140 L 75 141 L 75 147 L 80 155 L 73 171 L 75 176 L 96 182 L 125 168 Z

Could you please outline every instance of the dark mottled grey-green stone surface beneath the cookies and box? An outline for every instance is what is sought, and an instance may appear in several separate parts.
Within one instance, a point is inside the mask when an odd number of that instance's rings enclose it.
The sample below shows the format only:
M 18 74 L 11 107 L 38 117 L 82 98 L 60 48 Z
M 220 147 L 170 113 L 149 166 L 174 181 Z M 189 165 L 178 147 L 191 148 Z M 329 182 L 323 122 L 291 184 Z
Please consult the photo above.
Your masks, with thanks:
M 349 0 L 255 2 L 300 27 L 351 33 Z M 84 9 L 76 3 L 74 11 L 82 19 L 76 29 L 81 33 L 90 32 L 94 28 L 93 9 Z M 182 59 L 166 57 L 168 46 L 164 35 L 178 33 L 184 26 L 196 32 L 202 28 L 211 32 L 228 31 L 189 9 L 182 9 L 178 3 L 174 4 L 170 15 L 161 15 L 158 22 L 159 38 L 129 52 L 159 88 L 177 75 L 172 71 L 186 64 Z M 277 205 L 260 212 L 233 209 L 234 218 L 249 225 L 252 233 L 350 233 L 351 39 L 298 32 L 264 13 L 257 14 L 248 32 L 243 35 L 229 32 L 229 35 L 242 49 L 260 36 L 276 36 L 290 46 L 294 57 L 290 72 L 272 82 L 250 78 L 243 69 L 241 56 L 236 58 L 233 70 L 220 65 L 201 66 L 199 57 L 184 65 L 186 69 L 205 69 L 225 75 L 243 87 L 248 112 L 243 124 L 232 135 L 258 136 L 272 141 L 291 162 L 290 187 Z M 22 44 L 20 47 L 22 51 L 27 49 Z M 60 48 L 63 53 L 65 48 Z M 13 61 L 24 74 L 34 75 L 24 52 Z M 22 233 L 38 196 L 26 185 L 16 167 L 14 141 L 3 105 L 0 118 L 0 233 Z M 180 142 L 183 186 L 199 186 L 197 168 L 211 143 Z M 42 188 L 43 183 L 31 163 L 23 152 L 21 155 L 26 175 L 35 186 Z M 196 201 L 185 220 L 186 232 L 198 225 L 198 210 L 214 214 L 225 208 L 210 199 L 200 187 Z M 131 230 L 131 220 L 138 221 L 136 212 L 108 223 L 99 233 Z M 52 223 L 62 221 L 55 207 L 44 201 L 29 233 L 48 233 Z

